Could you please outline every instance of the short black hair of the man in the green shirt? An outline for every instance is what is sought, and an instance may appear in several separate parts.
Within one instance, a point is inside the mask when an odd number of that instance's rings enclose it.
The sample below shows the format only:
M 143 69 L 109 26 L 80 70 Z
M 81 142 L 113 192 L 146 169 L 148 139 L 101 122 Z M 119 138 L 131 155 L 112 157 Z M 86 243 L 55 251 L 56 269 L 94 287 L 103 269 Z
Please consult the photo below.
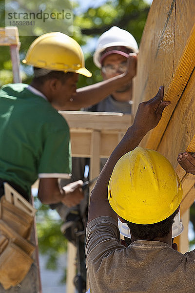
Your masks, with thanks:
M 36 72 L 40 68 L 34 67 L 33 69 Z M 33 82 L 35 82 L 36 84 L 44 84 L 46 81 L 48 81 L 50 79 L 57 78 L 63 83 L 65 80 L 67 80 L 70 77 L 72 77 L 73 74 L 74 74 L 74 72 L 65 73 L 63 71 L 53 70 L 53 71 L 47 73 L 46 75 L 42 75 L 42 76 L 39 76 L 39 77 L 34 77 Z

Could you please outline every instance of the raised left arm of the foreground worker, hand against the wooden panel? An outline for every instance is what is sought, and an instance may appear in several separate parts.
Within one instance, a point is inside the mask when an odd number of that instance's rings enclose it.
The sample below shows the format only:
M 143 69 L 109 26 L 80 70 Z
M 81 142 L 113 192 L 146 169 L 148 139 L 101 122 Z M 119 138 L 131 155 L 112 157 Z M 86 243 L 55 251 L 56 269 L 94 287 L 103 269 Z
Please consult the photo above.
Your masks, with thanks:
M 92 190 L 88 223 L 99 216 L 110 216 L 117 220 L 117 215 L 110 207 L 107 197 L 110 176 L 119 158 L 137 147 L 145 134 L 156 127 L 164 108 L 170 104 L 168 101 L 162 102 L 162 99 L 163 86 L 159 88 L 153 99 L 139 104 L 133 126 L 128 128 L 126 134 L 109 157 Z

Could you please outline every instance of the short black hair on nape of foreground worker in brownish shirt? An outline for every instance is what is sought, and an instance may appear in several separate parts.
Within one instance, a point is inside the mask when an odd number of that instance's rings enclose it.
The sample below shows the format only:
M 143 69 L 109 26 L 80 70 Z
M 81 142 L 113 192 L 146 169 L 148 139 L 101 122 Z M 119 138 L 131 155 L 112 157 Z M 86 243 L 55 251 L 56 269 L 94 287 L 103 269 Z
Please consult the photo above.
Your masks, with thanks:
M 155 224 L 135 224 L 132 222 L 125 221 L 127 223 L 131 234 L 134 235 L 137 239 L 140 240 L 153 240 L 156 237 L 162 238 L 168 235 L 172 225 L 174 223 L 174 218 L 178 213 L 179 209 L 177 208 L 173 214 L 163 221 L 160 221 Z

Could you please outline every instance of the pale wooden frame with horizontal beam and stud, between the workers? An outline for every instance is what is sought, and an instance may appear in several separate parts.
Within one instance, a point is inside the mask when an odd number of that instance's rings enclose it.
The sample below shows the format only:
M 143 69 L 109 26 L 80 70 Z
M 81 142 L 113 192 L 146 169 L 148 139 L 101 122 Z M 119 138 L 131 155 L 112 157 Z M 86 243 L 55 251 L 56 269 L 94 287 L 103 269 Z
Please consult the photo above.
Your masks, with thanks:
M 72 156 L 90 158 L 90 179 L 99 175 L 100 158 L 108 158 L 133 116 L 122 113 L 59 111 L 70 127 Z M 67 292 L 74 293 L 76 248 L 68 244 Z

